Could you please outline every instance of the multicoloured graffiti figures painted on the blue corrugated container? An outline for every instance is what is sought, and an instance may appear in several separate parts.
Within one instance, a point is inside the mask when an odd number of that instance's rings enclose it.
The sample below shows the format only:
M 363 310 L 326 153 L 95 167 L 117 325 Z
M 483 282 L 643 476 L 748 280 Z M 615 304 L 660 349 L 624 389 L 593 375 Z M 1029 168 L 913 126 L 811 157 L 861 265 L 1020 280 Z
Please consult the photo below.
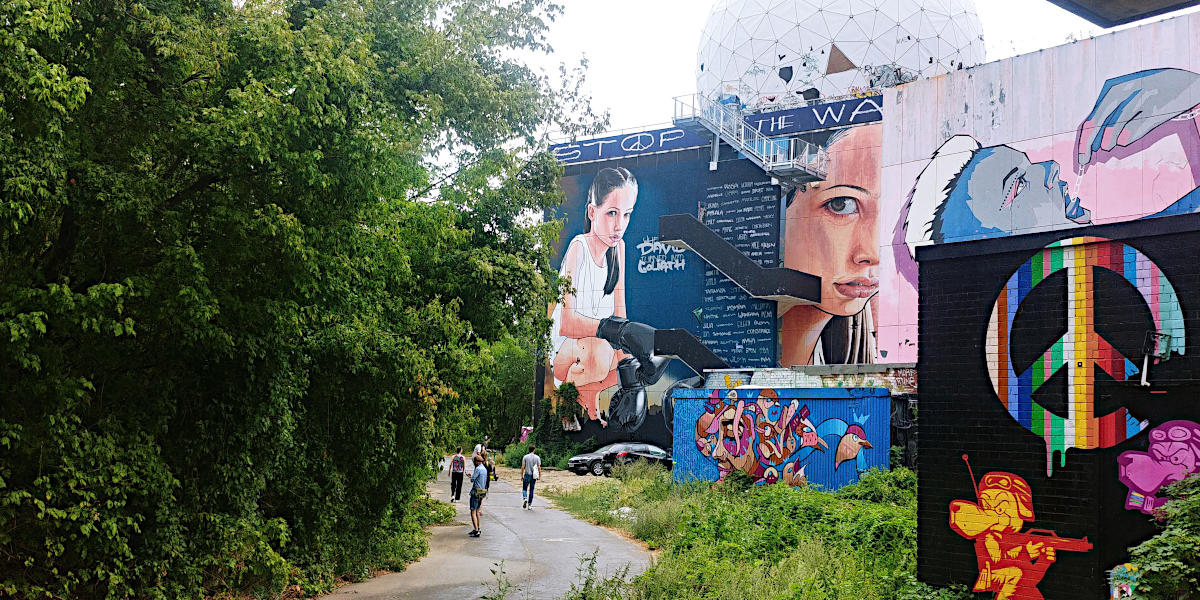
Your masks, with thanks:
M 696 420 L 696 448 L 716 462 L 719 481 L 740 472 L 758 484 L 799 486 L 808 482 L 805 461 L 829 448 L 828 436 L 839 437 L 834 469 L 854 462 L 859 473 L 866 470 L 862 451 L 874 446 L 860 425 L 866 418 L 856 419 L 827 419 L 818 426 L 808 404 L 780 398 L 774 390 L 718 390 Z

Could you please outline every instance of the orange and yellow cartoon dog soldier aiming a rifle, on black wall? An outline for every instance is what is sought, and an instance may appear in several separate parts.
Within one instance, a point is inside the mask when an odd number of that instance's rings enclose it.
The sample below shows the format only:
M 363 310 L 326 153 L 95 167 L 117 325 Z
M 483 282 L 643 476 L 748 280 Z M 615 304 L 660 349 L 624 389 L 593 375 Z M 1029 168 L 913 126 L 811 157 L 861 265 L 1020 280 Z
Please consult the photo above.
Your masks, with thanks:
M 979 577 L 974 592 L 995 592 L 996 600 L 1040 600 L 1038 583 L 1057 560 L 1057 551 L 1086 552 L 1087 538 L 1058 538 L 1021 528 L 1033 521 L 1033 491 L 1019 475 L 991 472 L 979 480 L 977 502 L 950 502 L 950 529 L 974 540 Z

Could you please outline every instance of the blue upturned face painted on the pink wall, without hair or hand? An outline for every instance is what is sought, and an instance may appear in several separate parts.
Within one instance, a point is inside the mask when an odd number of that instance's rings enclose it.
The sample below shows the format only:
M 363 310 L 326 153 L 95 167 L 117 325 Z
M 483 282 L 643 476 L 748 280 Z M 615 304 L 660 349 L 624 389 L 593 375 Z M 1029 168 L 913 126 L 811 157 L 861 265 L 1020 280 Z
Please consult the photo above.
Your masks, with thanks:
M 962 169 L 959 187 L 964 185 L 966 204 L 983 230 L 1020 232 L 1086 222 L 1086 211 L 1058 179 L 1057 162 L 1033 163 L 1009 146 L 980 149 Z

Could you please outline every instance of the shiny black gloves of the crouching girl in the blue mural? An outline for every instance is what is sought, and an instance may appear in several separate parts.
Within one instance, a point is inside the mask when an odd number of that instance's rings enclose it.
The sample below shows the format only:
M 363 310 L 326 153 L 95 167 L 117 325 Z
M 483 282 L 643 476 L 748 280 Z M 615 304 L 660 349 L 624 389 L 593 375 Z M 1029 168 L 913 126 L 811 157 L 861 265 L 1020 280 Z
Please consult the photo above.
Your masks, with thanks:
M 626 431 L 635 431 L 646 421 L 646 388 L 662 377 L 671 358 L 653 355 L 654 328 L 623 317 L 601 319 L 596 337 L 631 355 L 617 364 L 620 388 L 608 407 L 608 421 Z

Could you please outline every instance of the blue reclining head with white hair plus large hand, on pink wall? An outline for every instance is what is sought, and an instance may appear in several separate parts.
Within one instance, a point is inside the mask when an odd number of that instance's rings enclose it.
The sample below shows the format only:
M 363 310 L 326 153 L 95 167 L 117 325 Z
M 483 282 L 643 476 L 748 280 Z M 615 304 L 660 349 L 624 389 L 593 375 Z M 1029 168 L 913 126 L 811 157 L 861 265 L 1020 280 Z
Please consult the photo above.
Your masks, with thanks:
M 1195 212 L 1200 209 L 1200 76 L 1180 68 L 1139 71 L 1105 82 L 1092 112 L 1075 132 L 1074 173 L 1057 161 L 1034 162 L 1009 145 L 983 146 L 954 136 L 917 176 L 904 210 L 910 251 L 929 242 L 978 240 L 1091 224 L 1094 200 L 1078 182 L 1110 160 L 1127 158 L 1169 136 L 1178 138 L 1188 169 L 1186 192 L 1168 206 L 1147 211 L 1142 198 L 1126 199 L 1124 220 Z M 1114 209 L 1108 209 L 1114 212 Z M 1118 217 L 1120 218 L 1120 217 Z

